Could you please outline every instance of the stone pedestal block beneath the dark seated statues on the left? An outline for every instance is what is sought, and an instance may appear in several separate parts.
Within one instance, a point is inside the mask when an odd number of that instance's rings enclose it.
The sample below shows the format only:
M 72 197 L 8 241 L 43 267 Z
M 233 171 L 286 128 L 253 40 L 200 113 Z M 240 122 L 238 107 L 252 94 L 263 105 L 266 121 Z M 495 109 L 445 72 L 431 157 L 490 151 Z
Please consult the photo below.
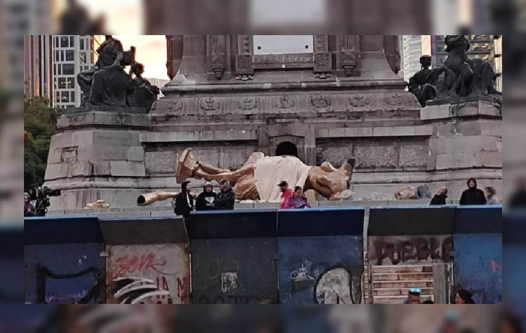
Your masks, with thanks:
M 61 189 L 51 209 L 83 208 L 105 200 L 133 206 L 145 181 L 140 133 L 150 124 L 144 109 L 89 107 L 68 110 L 50 141 L 45 186 Z

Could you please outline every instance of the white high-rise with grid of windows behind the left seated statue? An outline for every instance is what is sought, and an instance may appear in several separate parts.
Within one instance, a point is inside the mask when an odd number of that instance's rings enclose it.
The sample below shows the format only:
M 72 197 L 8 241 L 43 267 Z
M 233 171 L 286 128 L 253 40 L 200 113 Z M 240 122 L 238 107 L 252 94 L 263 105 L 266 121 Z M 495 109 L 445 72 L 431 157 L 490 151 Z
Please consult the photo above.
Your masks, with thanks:
M 99 44 L 94 35 L 53 36 L 53 105 L 63 109 L 80 105 L 83 94 L 77 75 L 93 67 Z

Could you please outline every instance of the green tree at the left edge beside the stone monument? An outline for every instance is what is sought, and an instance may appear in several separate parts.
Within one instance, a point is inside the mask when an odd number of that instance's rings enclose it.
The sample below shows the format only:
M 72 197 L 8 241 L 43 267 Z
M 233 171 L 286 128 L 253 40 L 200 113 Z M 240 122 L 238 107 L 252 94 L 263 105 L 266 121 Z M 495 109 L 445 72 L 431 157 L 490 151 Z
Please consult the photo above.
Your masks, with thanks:
M 44 183 L 49 141 L 57 132 L 59 111 L 49 106 L 43 97 L 24 99 L 24 188 Z

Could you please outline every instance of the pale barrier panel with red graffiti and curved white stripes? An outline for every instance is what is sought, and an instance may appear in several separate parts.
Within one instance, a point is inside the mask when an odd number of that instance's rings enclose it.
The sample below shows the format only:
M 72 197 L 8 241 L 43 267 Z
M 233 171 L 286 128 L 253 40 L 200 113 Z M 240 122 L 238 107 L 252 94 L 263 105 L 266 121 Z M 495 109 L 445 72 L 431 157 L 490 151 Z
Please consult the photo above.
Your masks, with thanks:
M 189 261 L 183 247 L 113 245 L 108 253 L 108 303 L 189 303 Z

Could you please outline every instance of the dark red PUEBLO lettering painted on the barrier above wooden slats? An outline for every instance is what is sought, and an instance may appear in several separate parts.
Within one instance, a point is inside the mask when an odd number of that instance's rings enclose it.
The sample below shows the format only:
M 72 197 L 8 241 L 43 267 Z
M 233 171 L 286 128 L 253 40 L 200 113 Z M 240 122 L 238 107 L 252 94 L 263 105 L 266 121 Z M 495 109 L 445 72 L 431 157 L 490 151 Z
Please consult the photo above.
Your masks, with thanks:
M 453 236 L 373 236 L 369 260 L 376 265 L 444 262 L 453 257 Z

